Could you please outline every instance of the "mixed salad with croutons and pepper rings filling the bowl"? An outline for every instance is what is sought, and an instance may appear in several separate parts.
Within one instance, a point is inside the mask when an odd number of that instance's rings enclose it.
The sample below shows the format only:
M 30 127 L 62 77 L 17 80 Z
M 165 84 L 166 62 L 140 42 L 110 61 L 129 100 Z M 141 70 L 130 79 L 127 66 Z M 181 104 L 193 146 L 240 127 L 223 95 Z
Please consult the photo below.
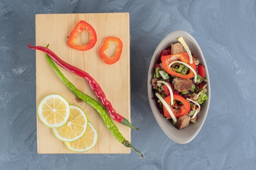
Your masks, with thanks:
M 207 97 L 204 66 L 191 53 L 182 37 L 163 49 L 151 80 L 156 106 L 177 129 L 196 123 Z

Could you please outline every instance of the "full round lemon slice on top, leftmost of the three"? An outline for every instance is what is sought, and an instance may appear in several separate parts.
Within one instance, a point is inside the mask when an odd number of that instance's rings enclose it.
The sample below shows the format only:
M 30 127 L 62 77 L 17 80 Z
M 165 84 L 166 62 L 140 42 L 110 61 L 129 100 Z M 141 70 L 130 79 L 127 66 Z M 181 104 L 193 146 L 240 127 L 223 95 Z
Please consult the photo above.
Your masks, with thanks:
M 70 105 L 61 95 L 48 95 L 38 105 L 38 118 L 49 128 L 63 126 L 70 117 Z

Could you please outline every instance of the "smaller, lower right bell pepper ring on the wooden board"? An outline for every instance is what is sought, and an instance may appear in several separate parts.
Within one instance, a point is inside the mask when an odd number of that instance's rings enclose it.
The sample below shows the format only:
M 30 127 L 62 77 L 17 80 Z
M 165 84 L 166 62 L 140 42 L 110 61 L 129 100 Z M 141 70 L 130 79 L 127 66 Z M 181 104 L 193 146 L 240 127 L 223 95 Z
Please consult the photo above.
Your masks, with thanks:
M 108 49 L 110 42 L 115 42 L 117 45 L 115 53 L 112 56 L 108 56 L 104 53 Z M 120 59 L 122 49 L 123 49 L 123 42 L 119 38 L 107 37 L 105 38 L 105 40 L 103 41 L 103 45 L 99 49 L 99 56 L 106 64 L 114 64 Z

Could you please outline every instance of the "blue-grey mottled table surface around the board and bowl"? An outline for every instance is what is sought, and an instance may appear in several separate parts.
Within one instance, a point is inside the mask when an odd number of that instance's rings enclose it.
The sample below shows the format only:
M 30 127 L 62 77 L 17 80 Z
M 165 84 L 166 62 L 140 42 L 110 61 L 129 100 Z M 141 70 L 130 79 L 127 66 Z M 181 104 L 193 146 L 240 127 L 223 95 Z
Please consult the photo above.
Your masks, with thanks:
M 35 14 L 130 14 L 131 141 L 144 155 L 38 154 Z M 204 53 L 211 105 L 198 136 L 177 144 L 148 103 L 148 66 L 168 33 L 190 33 Z M 254 0 L 0 0 L 0 170 L 254 170 Z M 254 72 L 255 71 L 255 72 Z

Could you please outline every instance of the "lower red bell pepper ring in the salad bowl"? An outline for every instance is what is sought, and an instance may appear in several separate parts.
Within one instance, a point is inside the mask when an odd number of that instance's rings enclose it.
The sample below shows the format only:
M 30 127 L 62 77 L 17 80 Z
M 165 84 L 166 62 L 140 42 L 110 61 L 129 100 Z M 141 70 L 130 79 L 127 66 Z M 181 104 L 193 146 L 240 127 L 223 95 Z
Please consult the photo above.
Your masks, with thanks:
M 168 103 L 171 104 L 171 95 L 168 95 L 167 97 L 164 98 L 164 100 Z M 173 94 L 173 100 L 177 100 L 182 102 L 182 105 L 174 108 L 173 106 L 170 106 L 171 110 L 173 111 L 173 114 L 175 115 L 176 118 L 182 117 L 189 113 L 190 110 L 190 104 L 189 101 L 187 101 L 185 98 L 183 98 L 181 95 L 178 94 Z M 176 101 L 176 102 L 177 102 Z M 164 108 L 164 116 L 171 118 L 170 114 L 168 113 L 167 109 L 163 106 Z

